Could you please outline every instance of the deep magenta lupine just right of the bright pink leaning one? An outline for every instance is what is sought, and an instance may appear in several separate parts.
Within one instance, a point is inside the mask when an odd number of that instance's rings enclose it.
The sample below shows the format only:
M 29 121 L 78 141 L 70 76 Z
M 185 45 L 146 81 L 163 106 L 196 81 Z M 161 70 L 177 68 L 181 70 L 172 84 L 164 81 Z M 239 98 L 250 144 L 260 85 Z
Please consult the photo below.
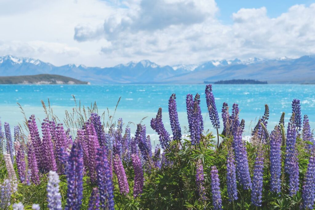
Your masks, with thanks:
M 136 154 L 132 154 L 131 159 L 132 159 L 132 166 L 134 167 L 134 171 L 135 171 L 135 179 L 134 179 L 135 184 L 134 184 L 133 194 L 134 194 L 134 198 L 136 198 L 140 196 L 142 193 L 143 182 L 144 182 L 143 170 L 142 170 L 142 164 L 141 164 L 139 156 L 137 156 Z

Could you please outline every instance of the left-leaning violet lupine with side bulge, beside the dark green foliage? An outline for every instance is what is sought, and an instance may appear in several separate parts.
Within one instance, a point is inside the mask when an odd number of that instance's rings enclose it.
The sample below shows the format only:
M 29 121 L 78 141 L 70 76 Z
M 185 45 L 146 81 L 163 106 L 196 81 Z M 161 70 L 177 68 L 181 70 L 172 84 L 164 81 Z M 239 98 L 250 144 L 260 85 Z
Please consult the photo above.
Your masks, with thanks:
M 168 149 L 169 142 L 171 141 L 169 133 L 166 131 L 162 121 L 162 108 L 157 111 L 156 118 L 151 119 L 151 128 L 159 135 L 159 140 L 163 149 Z

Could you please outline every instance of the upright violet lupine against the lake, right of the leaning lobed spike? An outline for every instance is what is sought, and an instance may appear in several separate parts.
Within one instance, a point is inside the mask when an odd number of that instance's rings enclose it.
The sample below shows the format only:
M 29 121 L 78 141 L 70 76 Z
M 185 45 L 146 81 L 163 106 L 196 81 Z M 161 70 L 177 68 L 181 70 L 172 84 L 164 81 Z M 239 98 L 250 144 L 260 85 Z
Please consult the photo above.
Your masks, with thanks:
M 169 121 L 171 123 L 173 140 L 181 140 L 181 128 L 178 121 L 178 113 L 176 106 L 176 95 L 172 94 L 169 97 Z

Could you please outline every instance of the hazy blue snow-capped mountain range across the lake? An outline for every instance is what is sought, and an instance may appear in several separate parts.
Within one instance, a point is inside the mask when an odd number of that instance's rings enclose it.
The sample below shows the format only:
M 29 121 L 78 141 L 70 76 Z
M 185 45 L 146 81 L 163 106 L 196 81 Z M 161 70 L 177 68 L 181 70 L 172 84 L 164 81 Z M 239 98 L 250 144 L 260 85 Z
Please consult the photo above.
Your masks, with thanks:
M 84 65 L 55 66 L 41 60 L 12 55 L 0 57 L 1 76 L 55 74 L 93 84 L 101 83 L 174 83 L 198 84 L 231 79 L 253 79 L 268 83 L 315 83 L 315 55 L 298 59 L 252 58 L 241 61 L 210 60 L 196 65 L 157 65 L 149 60 L 113 67 Z

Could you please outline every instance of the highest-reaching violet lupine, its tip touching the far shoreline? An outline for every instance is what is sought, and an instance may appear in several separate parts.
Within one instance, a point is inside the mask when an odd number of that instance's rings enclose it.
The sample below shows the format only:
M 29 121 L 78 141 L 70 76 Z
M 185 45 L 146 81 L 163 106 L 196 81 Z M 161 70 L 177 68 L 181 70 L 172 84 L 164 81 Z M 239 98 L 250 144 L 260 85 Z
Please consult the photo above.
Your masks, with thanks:
M 212 126 L 214 128 L 220 128 L 219 114 L 218 114 L 218 110 L 216 109 L 215 97 L 212 93 L 211 84 L 206 86 L 205 94 L 206 94 L 207 107 L 209 111 L 209 117 L 212 122 Z

